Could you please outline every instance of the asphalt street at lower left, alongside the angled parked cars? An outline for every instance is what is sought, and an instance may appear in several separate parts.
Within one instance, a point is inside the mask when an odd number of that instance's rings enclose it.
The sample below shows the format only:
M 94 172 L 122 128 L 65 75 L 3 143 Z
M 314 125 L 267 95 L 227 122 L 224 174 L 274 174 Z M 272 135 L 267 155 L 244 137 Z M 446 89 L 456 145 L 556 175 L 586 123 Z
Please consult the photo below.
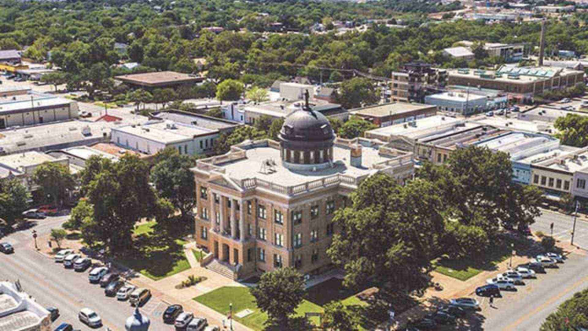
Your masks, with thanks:
M 53 323 L 56 327 L 61 322 L 68 322 L 74 329 L 92 330 L 78 320 L 78 312 L 83 307 L 95 310 L 102 317 L 104 326 L 112 330 L 124 330 L 124 323 L 133 313 L 133 307 L 124 301 L 106 297 L 104 290 L 98 284 L 88 282 L 89 270 L 75 272 L 64 269 L 61 263 L 55 263 L 48 257 L 34 249 L 31 230 L 39 234 L 48 233 L 52 227 L 58 227 L 66 216 L 48 217 L 39 220 L 35 227 L 12 233 L 0 241 L 8 241 L 15 247 L 14 254 L 1 254 L 0 279 L 20 280 L 23 289 L 43 306 L 58 307 L 61 316 Z M 44 244 L 44 243 L 39 243 Z M 151 298 L 141 308 L 151 319 L 151 330 L 174 330 L 173 326 L 162 322 L 163 310 L 166 303 Z M 101 329 L 105 329 L 102 327 Z

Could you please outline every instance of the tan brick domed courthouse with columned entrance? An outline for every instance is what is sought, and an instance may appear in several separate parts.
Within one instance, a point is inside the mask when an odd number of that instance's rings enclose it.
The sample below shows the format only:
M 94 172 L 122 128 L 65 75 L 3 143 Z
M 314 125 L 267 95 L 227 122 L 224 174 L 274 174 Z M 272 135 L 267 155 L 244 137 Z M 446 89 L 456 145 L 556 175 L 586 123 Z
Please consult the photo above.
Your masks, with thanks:
M 337 139 L 328 119 L 305 106 L 286 117 L 279 142 L 235 145 L 196 161 L 193 172 L 196 243 L 215 259 L 207 267 L 246 279 L 286 266 L 330 269 L 335 210 L 372 174 L 412 178 L 413 160 L 381 141 Z

